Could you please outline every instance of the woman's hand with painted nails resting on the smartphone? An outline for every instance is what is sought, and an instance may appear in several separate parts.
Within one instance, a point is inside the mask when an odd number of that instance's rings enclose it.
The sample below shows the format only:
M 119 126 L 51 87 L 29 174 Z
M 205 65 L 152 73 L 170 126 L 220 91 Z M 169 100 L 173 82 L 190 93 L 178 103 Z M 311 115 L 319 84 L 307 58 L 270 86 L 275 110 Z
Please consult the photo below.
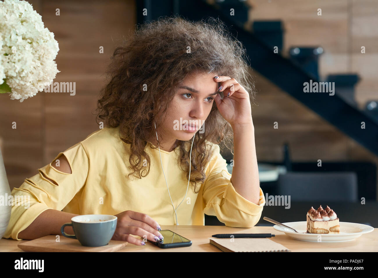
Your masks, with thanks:
M 145 245 L 146 240 L 156 242 L 163 239 L 161 233 L 158 232 L 158 229 L 161 229 L 158 222 L 145 213 L 126 210 L 115 216 L 117 216 L 117 227 L 112 240 L 127 241 L 135 245 Z M 143 239 L 137 239 L 132 235 L 140 236 Z

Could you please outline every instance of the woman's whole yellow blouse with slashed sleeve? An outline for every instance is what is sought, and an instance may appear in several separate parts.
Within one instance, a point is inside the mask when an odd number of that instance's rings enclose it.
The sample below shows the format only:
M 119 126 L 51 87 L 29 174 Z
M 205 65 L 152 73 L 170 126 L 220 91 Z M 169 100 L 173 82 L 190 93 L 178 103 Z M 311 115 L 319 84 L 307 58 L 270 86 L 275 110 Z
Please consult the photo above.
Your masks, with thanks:
M 54 160 L 39 168 L 39 173 L 25 179 L 11 194 L 20 200 L 30 198 L 28 205 L 12 201 L 12 212 L 4 238 L 21 240 L 17 235 L 26 229 L 40 213 L 50 208 L 78 215 L 116 215 L 133 210 L 149 215 L 160 225 L 176 224 L 166 181 L 161 169 L 159 149 L 146 146 L 151 159 L 150 173 L 141 179 L 127 179 L 130 145 L 119 138 L 119 128 L 104 128 L 60 152 Z M 154 146 L 155 147 L 155 146 Z M 175 151 L 160 150 L 169 193 L 175 208 L 184 199 L 188 181 L 180 168 Z M 64 154 L 72 173 L 64 173 L 52 165 Z M 265 198 L 260 188 L 260 205 L 243 198 L 235 191 L 217 144 L 206 164 L 206 180 L 197 184 L 196 191 L 189 183 L 184 201 L 177 209 L 180 225 L 204 225 L 204 213 L 215 215 L 229 227 L 249 228 L 261 217 Z M 55 181 L 46 179 L 42 173 Z M 23 195 L 23 196 L 22 196 Z

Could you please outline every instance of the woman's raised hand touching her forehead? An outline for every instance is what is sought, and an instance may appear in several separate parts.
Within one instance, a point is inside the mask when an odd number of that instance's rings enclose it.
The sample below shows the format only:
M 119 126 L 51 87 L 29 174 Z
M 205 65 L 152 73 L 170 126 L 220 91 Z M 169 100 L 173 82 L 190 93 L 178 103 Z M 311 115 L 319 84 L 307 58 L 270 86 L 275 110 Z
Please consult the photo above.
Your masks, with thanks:
M 219 113 L 231 126 L 252 124 L 251 103 L 249 94 L 234 78 L 229 76 L 219 76 L 214 82 L 219 82 L 223 92 L 223 99 L 219 94 L 215 96 Z M 229 93 L 229 95 L 228 95 Z M 228 96 L 227 96 L 228 95 Z

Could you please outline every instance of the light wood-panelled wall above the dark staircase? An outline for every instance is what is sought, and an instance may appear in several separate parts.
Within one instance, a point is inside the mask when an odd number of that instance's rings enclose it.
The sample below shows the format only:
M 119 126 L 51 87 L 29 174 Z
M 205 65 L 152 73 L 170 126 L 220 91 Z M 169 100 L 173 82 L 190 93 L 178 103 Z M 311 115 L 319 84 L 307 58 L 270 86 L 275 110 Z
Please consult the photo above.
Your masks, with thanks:
M 248 0 L 253 8 L 249 20 L 282 20 L 285 29 L 283 55 L 291 46 L 321 46 L 319 75 L 358 73 L 361 80 L 356 87 L 356 102 L 360 108 L 368 99 L 378 98 L 367 88 L 375 82 L 378 70 L 375 54 L 378 51 L 378 8 L 374 0 Z M 316 15 L 318 8 L 322 15 Z M 361 54 L 361 46 L 366 54 Z M 374 96 L 374 95 L 377 96 Z

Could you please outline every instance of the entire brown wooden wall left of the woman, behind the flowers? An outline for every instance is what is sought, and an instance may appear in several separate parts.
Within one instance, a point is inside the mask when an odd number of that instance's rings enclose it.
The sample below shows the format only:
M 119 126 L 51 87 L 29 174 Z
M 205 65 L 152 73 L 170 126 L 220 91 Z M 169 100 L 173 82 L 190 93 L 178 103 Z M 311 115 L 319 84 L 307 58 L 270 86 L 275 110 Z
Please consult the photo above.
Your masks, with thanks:
M 93 114 L 105 85 L 105 66 L 136 24 L 133 0 L 28 2 L 59 43 L 55 61 L 60 73 L 53 81 L 76 82 L 76 95 L 42 91 L 22 103 L 0 96 L 0 137 L 11 189 L 98 129 Z M 104 46 L 103 54 L 99 46 Z

